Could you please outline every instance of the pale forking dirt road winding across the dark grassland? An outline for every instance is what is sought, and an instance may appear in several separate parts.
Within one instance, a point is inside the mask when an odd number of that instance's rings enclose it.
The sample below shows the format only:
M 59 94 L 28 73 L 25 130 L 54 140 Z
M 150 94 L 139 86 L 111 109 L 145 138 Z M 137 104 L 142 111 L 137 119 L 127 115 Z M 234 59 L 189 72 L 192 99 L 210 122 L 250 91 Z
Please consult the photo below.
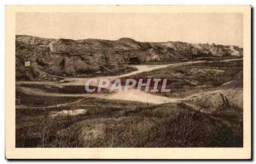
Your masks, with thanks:
M 242 60 L 242 59 L 226 59 L 222 60 L 221 62 L 229 62 L 234 60 Z M 114 80 L 116 78 L 121 78 L 125 76 L 132 76 L 136 75 L 138 73 L 142 73 L 145 71 L 154 71 L 156 69 L 162 69 L 166 68 L 168 66 L 181 66 L 181 65 L 191 65 L 195 63 L 204 63 L 207 62 L 205 60 L 201 61 L 189 61 L 189 62 L 183 62 L 183 63 L 177 63 L 177 64 L 169 64 L 169 65 L 133 65 L 137 67 L 137 71 L 133 71 L 131 73 L 127 73 L 120 76 L 102 76 L 102 77 L 96 77 L 96 78 L 108 78 L 109 80 Z M 208 61 L 209 62 L 209 61 Z M 211 61 L 210 61 L 211 62 Z M 213 62 L 213 61 L 212 61 Z M 150 93 L 145 93 L 143 91 L 139 91 L 137 89 L 130 89 L 129 91 L 123 91 L 123 92 L 117 92 L 112 94 L 104 94 L 104 93 L 81 93 L 81 94 L 72 94 L 72 93 L 47 93 L 42 89 L 36 89 L 36 88 L 26 88 L 26 87 L 20 87 L 19 84 L 48 84 L 53 86 L 73 86 L 73 85 L 84 85 L 86 82 L 86 78 L 67 78 L 65 83 L 61 82 L 16 82 L 16 85 L 18 85 L 18 88 L 24 93 L 32 94 L 32 95 L 43 95 L 43 96 L 53 96 L 53 97 L 87 97 L 87 98 L 98 98 L 98 99 L 120 99 L 120 100 L 130 100 L 130 101 L 137 101 L 137 102 L 143 102 L 143 103 L 150 103 L 150 104 L 164 104 L 164 103 L 174 103 L 174 102 L 180 102 L 187 99 L 193 99 L 195 97 L 204 97 L 208 94 L 212 93 L 218 93 L 218 90 L 214 91 L 206 91 L 201 93 L 195 93 L 192 94 L 186 98 L 167 98 L 160 95 L 154 95 Z

